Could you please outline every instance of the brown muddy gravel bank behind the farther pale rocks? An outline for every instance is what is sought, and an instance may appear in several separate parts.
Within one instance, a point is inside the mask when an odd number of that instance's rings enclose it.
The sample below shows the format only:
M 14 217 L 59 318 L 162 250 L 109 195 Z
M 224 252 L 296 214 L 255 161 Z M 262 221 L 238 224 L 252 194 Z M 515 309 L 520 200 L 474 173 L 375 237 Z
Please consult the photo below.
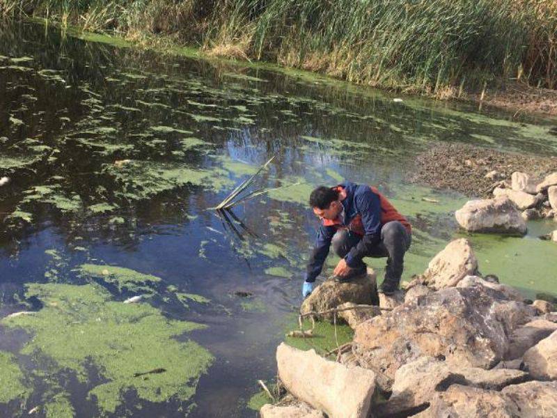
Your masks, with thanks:
M 491 196 L 492 185 L 514 171 L 543 176 L 557 170 L 557 157 L 505 153 L 465 144 L 436 144 L 416 158 L 410 180 L 466 196 Z M 496 173 L 491 173 L 496 171 Z M 490 175 L 488 175 L 490 174 Z

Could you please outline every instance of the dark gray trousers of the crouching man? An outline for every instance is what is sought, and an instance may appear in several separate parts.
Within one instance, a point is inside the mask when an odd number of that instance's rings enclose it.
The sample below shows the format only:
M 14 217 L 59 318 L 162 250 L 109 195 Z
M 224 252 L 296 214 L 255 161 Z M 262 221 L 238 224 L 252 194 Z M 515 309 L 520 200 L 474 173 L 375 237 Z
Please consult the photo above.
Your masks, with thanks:
M 336 255 L 344 258 L 352 247 L 358 245 L 360 240 L 361 235 L 342 229 L 335 233 L 331 245 Z M 402 270 L 404 270 L 405 252 L 409 249 L 411 240 L 411 234 L 404 225 L 398 221 L 387 222 L 381 229 L 381 241 L 364 256 L 387 257 L 385 280 L 393 280 L 398 283 Z

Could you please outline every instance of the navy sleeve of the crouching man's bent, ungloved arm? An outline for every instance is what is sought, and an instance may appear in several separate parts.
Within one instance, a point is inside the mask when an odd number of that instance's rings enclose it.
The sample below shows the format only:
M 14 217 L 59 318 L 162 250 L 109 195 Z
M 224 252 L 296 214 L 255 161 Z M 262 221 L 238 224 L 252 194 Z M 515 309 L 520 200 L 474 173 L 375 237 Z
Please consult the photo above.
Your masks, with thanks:
M 381 199 L 367 187 L 355 196 L 356 209 L 361 216 L 365 235 L 345 257 L 350 268 L 356 267 L 365 254 L 369 254 L 381 240 Z

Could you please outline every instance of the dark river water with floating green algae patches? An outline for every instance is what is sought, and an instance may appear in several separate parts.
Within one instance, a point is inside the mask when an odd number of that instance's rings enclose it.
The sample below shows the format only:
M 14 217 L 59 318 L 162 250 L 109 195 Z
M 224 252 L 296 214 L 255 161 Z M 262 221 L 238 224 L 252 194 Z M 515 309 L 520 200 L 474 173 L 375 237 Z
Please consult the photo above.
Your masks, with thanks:
M 0 26 L 0 416 L 254 417 L 297 327 L 313 187 L 379 187 L 414 224 L 409 279 L 464 236 L 467 200 L 409 184 L 416 153 L 557 154 L 551 121 L 115 43 Z M 219 217 L 273 156 L 251 190 L 276 189 Z M 557 293 L 557 247 L 537 238 L 551 229 L 466 236 L 483 274 L 535 297 Z M 312 345 L 350 338 L 336 331 Z

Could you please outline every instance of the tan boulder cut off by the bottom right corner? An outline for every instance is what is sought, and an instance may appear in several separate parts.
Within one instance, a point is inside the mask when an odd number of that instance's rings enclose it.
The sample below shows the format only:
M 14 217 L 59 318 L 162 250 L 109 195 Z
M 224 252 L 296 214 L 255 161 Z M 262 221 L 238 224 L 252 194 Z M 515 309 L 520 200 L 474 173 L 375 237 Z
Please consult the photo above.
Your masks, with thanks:
M 505 387 L 501 394 L 515 405 L 519 417 L 557 417 L 557 382 L 526 382 Z

